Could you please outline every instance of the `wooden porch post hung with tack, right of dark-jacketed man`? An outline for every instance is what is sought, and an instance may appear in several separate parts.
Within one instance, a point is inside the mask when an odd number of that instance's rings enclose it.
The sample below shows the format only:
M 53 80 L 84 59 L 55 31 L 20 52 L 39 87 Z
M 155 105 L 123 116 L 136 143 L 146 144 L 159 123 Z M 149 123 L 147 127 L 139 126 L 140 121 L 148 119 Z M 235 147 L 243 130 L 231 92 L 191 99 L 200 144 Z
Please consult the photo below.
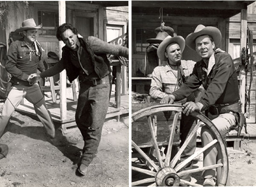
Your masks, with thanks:
M 247 39 L 247 8 L 241 9 L 241 38 L 240 38 L 240 54 L 243 47 L 246 48 L 246 39 Z M 240 57 L 241 62 L 241 57 Z M 245 67 L 241 66 L 240 70 L 240 99 L 242 102 L 242 112 L 244 113 L 245 105 Z

